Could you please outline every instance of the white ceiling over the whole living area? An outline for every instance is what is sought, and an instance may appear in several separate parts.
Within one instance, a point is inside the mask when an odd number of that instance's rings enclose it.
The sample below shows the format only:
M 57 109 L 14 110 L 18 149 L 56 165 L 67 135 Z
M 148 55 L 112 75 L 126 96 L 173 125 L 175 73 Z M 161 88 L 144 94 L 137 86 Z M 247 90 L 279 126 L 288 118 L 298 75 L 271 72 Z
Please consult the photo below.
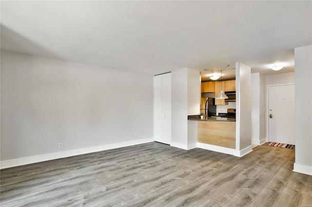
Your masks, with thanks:
M 1 49 L 130 71 L 294 71 L 312 1 L 1 1 Z M 284 69 L 269 69 L 273 64 Z

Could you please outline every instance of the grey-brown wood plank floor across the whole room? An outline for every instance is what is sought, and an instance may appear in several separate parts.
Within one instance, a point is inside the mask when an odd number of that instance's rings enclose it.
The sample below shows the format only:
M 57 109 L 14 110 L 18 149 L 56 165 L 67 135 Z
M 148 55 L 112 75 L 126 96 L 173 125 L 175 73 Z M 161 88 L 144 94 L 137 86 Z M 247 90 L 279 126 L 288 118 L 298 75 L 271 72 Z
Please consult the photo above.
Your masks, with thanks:
M 311 207 L 312 176 L 294 150 L 258 146 L 244 157 L 151 142 L 0 171 L 0 205 Z

